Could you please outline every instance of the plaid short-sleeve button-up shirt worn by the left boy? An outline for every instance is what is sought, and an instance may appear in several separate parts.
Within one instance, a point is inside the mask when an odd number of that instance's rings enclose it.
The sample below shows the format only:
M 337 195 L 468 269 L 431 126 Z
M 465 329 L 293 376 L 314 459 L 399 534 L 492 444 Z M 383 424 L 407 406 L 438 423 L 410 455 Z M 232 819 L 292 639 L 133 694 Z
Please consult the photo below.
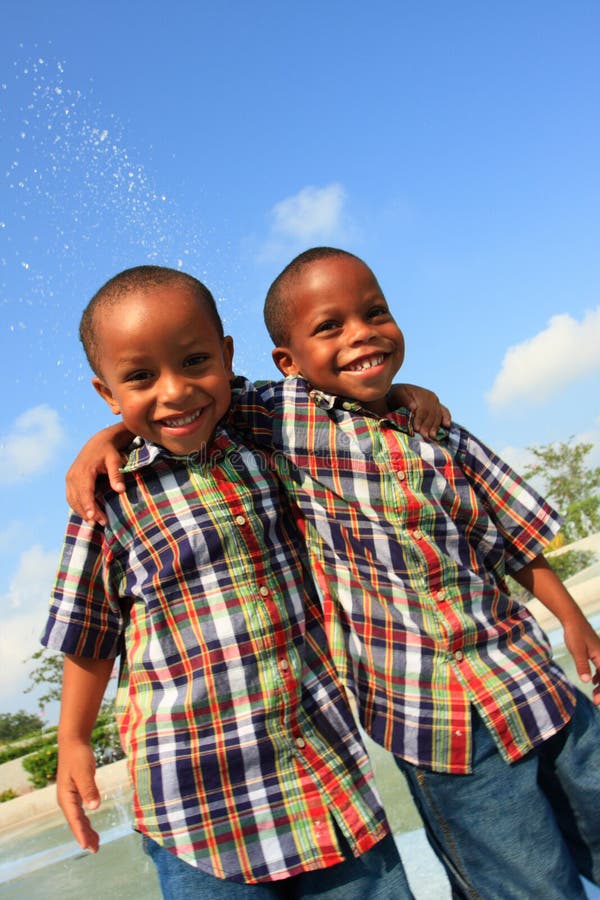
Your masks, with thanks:
M 267 457 L 220 430 L 125 471 L 105 529 L 69 520 L 43 643 L 122 651 L 136 827 L 236 881 L 340 862 L 334 822 L 364 852 L 387 824 Z

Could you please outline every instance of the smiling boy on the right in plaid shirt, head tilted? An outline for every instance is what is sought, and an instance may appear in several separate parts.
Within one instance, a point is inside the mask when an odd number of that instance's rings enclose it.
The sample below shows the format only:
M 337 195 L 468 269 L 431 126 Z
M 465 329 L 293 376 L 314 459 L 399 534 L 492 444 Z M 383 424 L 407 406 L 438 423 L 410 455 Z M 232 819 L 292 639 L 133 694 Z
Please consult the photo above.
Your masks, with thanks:
M 353 254 L 293 260 L 265 321 L 288 377 L 244 397 L 245 417 L 294 464 L 338 670 L 454 895 L 584 898 L 578 872 L 600 882 L 598 709 L 505 580 L 559 618 L 600 703 L 600 639 L 541 555 L 557 515 L 466 429 L 430 442 L 393 409 L 402 333 Z

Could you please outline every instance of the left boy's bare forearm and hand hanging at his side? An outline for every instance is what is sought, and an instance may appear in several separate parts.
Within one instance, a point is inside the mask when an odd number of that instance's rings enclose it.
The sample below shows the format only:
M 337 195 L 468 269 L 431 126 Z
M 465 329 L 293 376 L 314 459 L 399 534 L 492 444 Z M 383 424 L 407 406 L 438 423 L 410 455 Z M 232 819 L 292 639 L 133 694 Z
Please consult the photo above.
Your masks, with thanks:
M 92 853 L 97 853 L 100 838 L 83 805 L 97 809 L 100 794 L 94 779 L 96 764 L 90 737 L 113 665 L 114 659 L 64 658 L 56 792 L 77 842 Z

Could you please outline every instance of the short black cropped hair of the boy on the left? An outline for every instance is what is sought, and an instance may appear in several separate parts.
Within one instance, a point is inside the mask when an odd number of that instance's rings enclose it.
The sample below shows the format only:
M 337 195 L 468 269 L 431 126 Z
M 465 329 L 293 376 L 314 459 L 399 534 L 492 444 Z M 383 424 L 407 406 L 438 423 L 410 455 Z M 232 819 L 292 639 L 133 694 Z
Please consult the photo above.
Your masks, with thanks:
M 114 306 L 134 291 L 143 291 L 167 284 L 188 288 L 205 305 L 208 315 L 213 321 L 219 337 L 224 337 L 223 322 L 217 310 L 215 298 L 201 281 L 182 272 L 180 269 L 169 269 L 167 266 L 134 266 L 124 269 L 110 278 L 100 290 L 96 291 L 83 311 L 79 324 L 79 338 L 83 344 L 87 360 L 96 373 L 100 375 L 99 341 L 97 334 L 97 313 L 108 306 Z

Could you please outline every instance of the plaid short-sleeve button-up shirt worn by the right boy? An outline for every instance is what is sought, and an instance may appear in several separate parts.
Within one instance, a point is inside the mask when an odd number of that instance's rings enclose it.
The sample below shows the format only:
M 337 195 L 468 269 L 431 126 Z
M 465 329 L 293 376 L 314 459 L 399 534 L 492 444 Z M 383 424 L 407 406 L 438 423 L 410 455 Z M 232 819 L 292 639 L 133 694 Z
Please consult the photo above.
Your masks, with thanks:
M 407 411 L 378 418 L 300 378 L 247 384 L 236 418 L 302 510 L 332 654 L 374 740 L 465 773 L 472 705 L 507 761 L 564 726 L 573 690 L 505 582 L 559 519 L 505 462 L 459 425 L 428 441 Z

